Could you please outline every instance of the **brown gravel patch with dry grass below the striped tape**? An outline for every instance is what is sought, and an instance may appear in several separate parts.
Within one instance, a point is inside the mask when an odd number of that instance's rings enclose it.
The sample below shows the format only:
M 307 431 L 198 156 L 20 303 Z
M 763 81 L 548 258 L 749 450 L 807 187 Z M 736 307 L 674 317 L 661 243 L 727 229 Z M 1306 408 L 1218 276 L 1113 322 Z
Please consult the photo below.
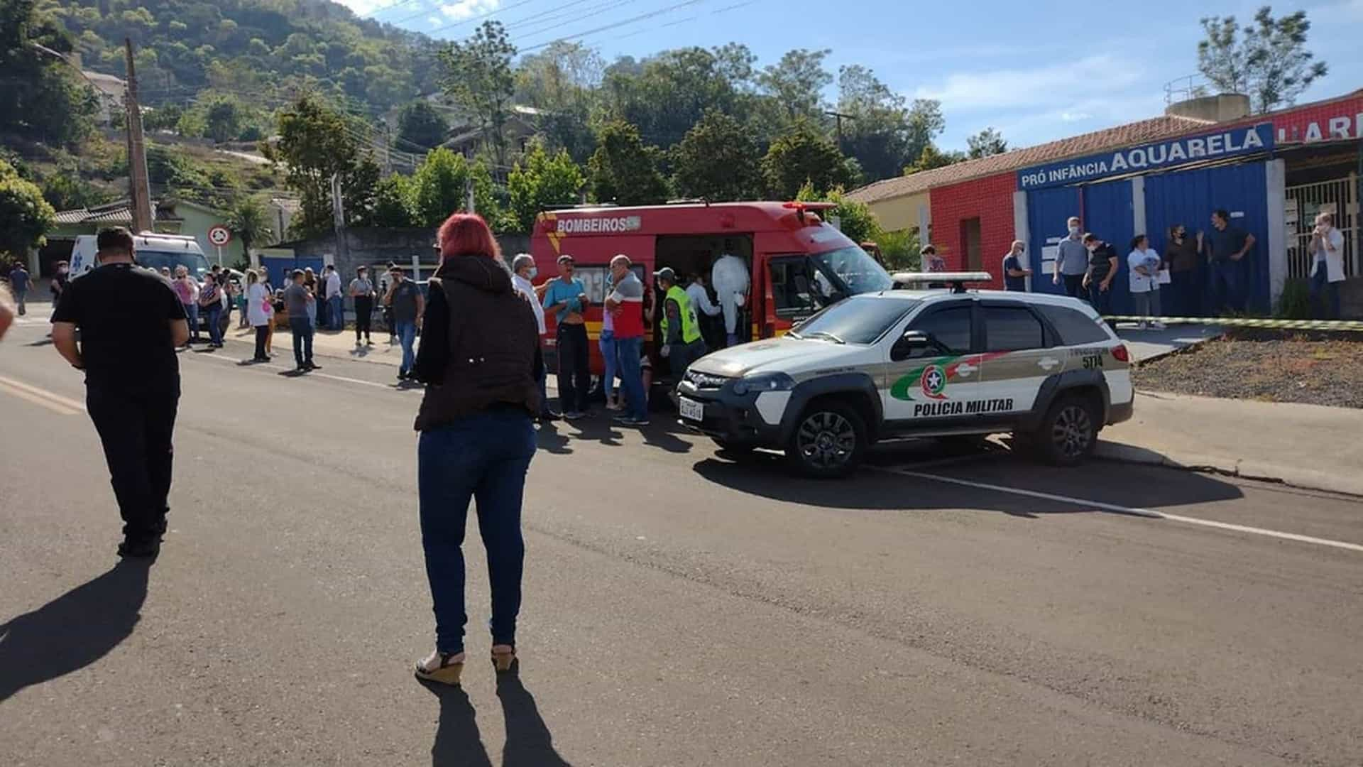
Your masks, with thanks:
M 1134 378 L 1142 390 L 1363 408 L 1363 333 L 1229 332 Z

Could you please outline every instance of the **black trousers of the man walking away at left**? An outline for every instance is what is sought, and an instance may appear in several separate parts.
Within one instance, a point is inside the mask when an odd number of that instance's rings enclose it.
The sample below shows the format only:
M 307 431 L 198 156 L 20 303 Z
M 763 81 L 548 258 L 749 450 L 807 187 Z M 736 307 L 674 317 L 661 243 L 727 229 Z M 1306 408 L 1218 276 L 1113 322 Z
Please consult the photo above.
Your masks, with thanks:
M 129 540 L 153 540 L 165 532 L 179 401 L 179 382 L 135 392 L 86 385 L 86 409 L 104 444 L 123 535 Z

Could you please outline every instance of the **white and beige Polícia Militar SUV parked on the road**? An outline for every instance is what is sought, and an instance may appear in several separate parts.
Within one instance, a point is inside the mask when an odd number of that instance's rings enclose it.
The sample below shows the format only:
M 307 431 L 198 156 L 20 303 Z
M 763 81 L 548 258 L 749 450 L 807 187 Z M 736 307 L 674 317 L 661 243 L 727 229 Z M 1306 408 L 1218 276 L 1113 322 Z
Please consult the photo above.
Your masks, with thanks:
M 814 476 L 851 474 L 880 439 L 1013 433 L 1058 465 L 1131 418 L 1130 353 L 1089 304 L 966 291 L 987 273 L 895 274 L 780 338 L 687 368 L 682 423 L 732 450 L 776 448 Z

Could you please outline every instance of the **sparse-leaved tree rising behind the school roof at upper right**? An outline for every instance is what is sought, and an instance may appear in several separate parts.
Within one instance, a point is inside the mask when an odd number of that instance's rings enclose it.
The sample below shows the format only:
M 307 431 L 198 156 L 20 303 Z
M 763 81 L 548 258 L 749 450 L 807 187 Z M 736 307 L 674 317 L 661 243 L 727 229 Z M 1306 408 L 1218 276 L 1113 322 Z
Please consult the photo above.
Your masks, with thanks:
M 1295 104 L 1329 72 L 1307 49 L 1310 29 L 1306 11 L 1273 18 L 1270 5 L 1261 7 L 1244 27 L 1235 16 L 1204 18 L 1206 37 L 1197 46 L 1198 70 L 1223 93 L 1250 96 L 1259 113 Z

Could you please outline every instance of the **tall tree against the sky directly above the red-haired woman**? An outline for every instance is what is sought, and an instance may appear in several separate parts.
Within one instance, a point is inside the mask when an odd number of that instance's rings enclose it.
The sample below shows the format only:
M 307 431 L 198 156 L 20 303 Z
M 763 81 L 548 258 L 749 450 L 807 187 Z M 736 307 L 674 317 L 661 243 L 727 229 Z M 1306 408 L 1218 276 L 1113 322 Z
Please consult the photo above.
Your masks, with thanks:
M 512 56 L 515 46 L 507 40 L 502 22 L 495 20 L 483 22 L 473 37 L 451 42 L 440 52 L 444 93 L 478 120 L 499 165 L 506 165 L 506 123 L 515 93 Z

